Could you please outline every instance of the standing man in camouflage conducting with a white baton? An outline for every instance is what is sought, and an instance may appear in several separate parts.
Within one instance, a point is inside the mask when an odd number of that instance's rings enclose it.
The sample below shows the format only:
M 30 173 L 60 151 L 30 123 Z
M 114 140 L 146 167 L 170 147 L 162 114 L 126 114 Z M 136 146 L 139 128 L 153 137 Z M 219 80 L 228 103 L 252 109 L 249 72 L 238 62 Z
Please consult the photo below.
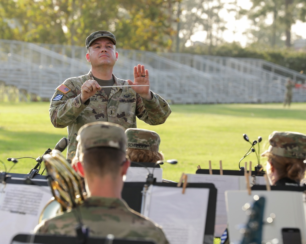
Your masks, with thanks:
M 136 117 L 147 124 L 158 125 L 164 123 L 171 113 L 168 103 L 150 91 L 149 73 L 144 65 L 134 67 L 134 82 L 114 76 L 118 52 L 112 33 L 96 31 L 86 38 L 85 44 L 88 49 L 86 59 L 91 63 L 91 70 L 86 75 L 69 78 L 58 86 L 49 109 L 54 127 L 68 126 L 68 160 L 75 155 L 76 134 L 84 124 L 105 121 L 119 124 L 125 129 L 136 128 Z

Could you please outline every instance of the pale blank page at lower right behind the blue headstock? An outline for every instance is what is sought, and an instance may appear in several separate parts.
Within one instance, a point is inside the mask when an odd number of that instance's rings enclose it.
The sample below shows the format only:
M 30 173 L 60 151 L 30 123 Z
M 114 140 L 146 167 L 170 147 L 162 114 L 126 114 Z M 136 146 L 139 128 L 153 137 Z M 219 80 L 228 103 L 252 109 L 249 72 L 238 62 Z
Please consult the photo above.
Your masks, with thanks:
M 251 195 L 247 191 L 226 191 L 226 204 L 228 216 L 228 234 L 230 242 L 241 243 L 243 234 L 240 229 L 245 228 L 249 216 L 243 211 L 245 203 L 255 201 L 254 196 L 265 197 L 263 211 L 263 240 L 278 239 L 278 244 L 282 244 L 282 228 L 299 228 L 302 243 L 306 243 L 306 203 L 304 192 L 293 191 L 266 191 L 253 190 Z M 267 223 L 267 219 L 274 214 L 272 223 Z

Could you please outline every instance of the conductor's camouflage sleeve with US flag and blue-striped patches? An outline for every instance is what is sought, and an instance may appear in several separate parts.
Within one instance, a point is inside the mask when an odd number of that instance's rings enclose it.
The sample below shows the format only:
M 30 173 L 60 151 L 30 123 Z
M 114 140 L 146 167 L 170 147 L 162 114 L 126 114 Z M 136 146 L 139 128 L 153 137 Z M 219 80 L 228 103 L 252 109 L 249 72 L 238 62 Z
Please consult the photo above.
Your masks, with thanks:
M 50 103 L 50 120 L 57 128 L 64 128 L 72 124 L 89 104 L 89 100 L 85 104 L 81 102 L 80 94 L 77 94 L 72 84 L 66 85 L 71 90 L 66 94 L 56 90 Z

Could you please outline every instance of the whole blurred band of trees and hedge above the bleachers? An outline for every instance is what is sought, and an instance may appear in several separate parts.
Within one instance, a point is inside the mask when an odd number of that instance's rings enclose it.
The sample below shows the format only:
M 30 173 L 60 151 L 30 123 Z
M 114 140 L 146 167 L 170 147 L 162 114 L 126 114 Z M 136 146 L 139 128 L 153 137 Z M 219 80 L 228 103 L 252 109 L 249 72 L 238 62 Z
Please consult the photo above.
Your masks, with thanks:
M 291 30 L 306 22 L 305 0 L 250 0 L 249 9 L 237 1 L 1 0 L 0 38 L 84 46 L 92 32 L 109 30 L 117 48 L 260 58 L 306 72 L 305 49 L 292 47 L 302 38 Z M 224 37 L 225 13 L 252 23 L 245 46 Z M 202 41 L 192 41 L 199 31 Z

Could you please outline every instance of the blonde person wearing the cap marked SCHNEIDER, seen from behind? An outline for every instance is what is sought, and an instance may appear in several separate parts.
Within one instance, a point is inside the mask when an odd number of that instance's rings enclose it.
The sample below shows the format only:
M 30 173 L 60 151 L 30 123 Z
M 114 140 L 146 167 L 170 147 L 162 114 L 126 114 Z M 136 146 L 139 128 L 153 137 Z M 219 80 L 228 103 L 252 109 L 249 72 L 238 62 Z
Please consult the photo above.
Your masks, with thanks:
M 126 151 L 132 162 L 156 163 L 164 160 L 164 155 L 159 152 L 160 137 L 155 131 L 145 129 L 127 129 Z

